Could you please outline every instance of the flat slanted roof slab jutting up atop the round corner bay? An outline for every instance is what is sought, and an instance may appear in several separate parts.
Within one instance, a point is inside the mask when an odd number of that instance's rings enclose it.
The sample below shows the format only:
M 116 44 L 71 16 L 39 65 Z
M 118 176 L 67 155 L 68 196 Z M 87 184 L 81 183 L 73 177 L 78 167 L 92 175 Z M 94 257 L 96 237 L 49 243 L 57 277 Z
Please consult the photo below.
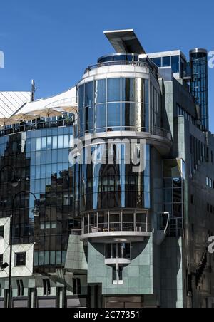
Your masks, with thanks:
M 146 53 L 133 29 L 104 31 L 117 53 Z

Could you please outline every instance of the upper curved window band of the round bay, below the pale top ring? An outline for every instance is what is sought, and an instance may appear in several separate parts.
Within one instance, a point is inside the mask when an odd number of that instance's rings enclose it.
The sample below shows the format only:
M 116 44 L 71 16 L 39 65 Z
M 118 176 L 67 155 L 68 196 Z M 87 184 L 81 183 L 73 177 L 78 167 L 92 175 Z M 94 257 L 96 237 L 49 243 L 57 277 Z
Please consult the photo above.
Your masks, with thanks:
M 78 99 L 80 136 L 107 131 L 149 131 L 149 82 L 146 79 L 92 81 L 79 86 Z

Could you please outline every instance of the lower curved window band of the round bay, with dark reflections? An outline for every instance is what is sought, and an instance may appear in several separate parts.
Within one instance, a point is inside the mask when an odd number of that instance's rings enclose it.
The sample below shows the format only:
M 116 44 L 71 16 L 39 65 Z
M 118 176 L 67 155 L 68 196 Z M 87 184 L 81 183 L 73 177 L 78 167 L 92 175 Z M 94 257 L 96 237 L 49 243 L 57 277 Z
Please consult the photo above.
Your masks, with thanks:
M 91 151 L 87 151 L 91 155 L 98 148 L 101 153 L 105 151 L 101 156 L 104 164 L 91 162 L 90 165 L 74 165 L 76 214 L 92 209 L 150 208 L 150 146 L 146 145 L 145 171 L 133 172 L 133 165 L 126 164 L 126 146 L 114 145 L 111 151 L 113 164 L 108 164 L 107 145 L 92 145 Z M 117 164 L 118 159 L 121 160 L 120 164 Z

